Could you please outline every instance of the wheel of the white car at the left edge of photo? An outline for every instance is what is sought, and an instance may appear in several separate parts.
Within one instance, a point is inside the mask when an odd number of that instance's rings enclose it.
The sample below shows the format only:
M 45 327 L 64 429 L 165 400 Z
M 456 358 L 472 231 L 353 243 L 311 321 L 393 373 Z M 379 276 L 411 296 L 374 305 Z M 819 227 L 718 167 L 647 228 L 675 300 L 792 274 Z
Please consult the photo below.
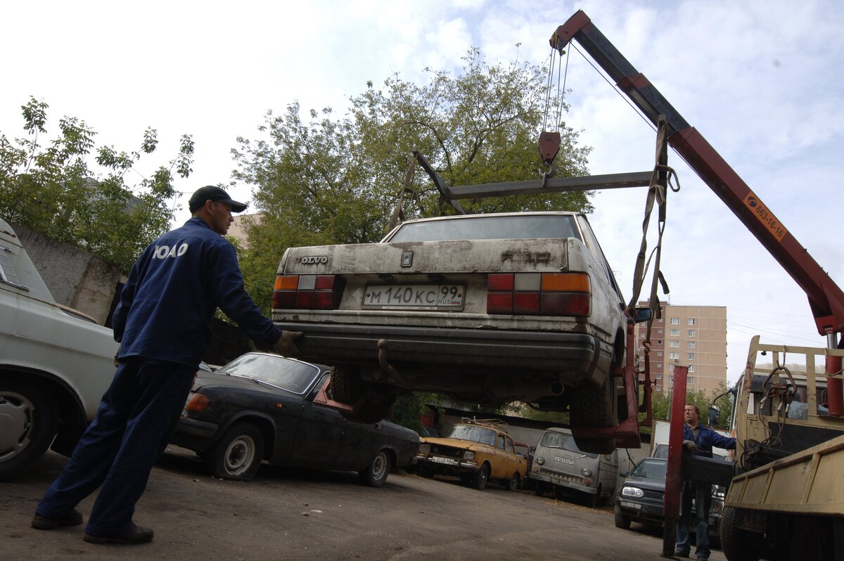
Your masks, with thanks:
M 44 455 L 58 428 L 56 402 L 30 381 L 0 380 L 0 481 Z

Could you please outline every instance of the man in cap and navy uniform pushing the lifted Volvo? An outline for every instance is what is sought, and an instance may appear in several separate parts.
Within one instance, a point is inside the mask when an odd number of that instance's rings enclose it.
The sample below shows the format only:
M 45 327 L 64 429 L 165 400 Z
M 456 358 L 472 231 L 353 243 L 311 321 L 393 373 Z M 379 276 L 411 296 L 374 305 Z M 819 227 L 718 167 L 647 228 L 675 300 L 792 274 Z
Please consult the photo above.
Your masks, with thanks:
M 96 418 L 35 510 L 32 526 L 76 526 L 80 500 L 100 488 L 84 540 L 143 543 L 150 528 L 132 521 L 149 472 L 176 429 L 219 307 L 247 337 L 298 355 L 301 332 L 282 332 L 243 289 L 234 247 L 225 240 L 232 211 L 246 204 L 216 186 L 193 193 L 192 218 L 143 251 L 123 287 L 112 324 L 119 365 Z

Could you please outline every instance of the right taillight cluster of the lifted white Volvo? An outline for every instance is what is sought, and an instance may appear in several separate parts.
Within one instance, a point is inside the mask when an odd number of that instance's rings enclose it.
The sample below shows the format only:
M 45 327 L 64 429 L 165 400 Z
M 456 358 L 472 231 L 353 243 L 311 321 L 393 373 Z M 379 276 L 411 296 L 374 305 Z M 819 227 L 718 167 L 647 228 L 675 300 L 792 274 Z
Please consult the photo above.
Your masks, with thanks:
M 589 316 L 589 275 L 582 272 L 496 272 L 487 278 L 486 313 Z

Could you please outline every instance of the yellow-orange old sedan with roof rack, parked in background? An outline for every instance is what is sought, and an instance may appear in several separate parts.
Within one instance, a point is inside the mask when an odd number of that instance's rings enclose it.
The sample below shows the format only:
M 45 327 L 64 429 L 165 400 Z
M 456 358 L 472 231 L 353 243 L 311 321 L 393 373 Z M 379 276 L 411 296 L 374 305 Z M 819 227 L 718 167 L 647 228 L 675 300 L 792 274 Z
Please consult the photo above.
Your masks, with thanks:
M 515 491 L 527 474 L 527 459 L 517 454 L 506 423 L 500 421 L 467 419 L 445 438 L 424 438 L 417 461 L 424 477 L 454 475 L 476 489 L 486 488 L 493 479 Z

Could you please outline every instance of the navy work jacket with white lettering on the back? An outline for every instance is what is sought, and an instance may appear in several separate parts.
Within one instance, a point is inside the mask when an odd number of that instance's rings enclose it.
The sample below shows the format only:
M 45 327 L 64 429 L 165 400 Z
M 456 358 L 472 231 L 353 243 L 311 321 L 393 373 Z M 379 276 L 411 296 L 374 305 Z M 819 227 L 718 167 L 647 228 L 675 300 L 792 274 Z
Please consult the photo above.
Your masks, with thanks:
M 120 358 L 198 366 L 218 307 L 257 343 L 281 337 L 246 294 L 234 246 L 194 217 L 150 244 L 129 272 L 112 318 Z

